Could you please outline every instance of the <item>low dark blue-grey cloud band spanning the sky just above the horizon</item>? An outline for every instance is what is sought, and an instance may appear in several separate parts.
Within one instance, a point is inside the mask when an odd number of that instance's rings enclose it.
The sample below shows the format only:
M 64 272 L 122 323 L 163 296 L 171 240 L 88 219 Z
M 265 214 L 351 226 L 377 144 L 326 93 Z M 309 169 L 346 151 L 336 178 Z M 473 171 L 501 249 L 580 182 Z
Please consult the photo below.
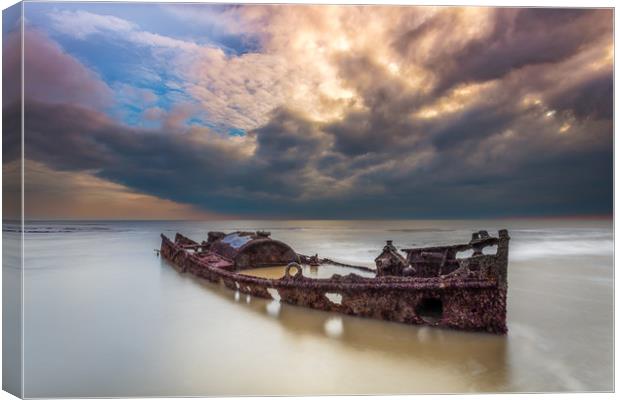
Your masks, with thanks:
M 503 143 L 507 152 L 495 156 L 490 154 L 502 142 L 498 137 L 493 139 L 496 143 L 472 139 L 441 151 L 429 145 L 417 153 L 404 148 L 386 156 L 351 157 L 330 152 L 324 132 L 280 110 L 253 132 L 258 148 L 254 156 L 244 158 L 218 142 L 128 129 L 74 106 L 33 102 L 27 110 L 27 158 L 56 170 L 96 171 L 98 177 L 140 192 L 220 212 L 336 218 L 611 209 L 607 127 L 599 128 L 598 136 L 592 133 L 598 137 L 593 142 L 554 142 L 547 132 L 530 133 Z M 322 154 L 325 151 L 329 154 Z M 424 151 L 436 153 L 422 165 L 407 164 Z M 304 198 L 306 185 L 319 179 L 304 176 L 308 171 L 333 182 L 352 179 L 353 187 L 331 196 L 336 186 L 328 184 Z M 381 190 L 367 190 L 373 187 Z

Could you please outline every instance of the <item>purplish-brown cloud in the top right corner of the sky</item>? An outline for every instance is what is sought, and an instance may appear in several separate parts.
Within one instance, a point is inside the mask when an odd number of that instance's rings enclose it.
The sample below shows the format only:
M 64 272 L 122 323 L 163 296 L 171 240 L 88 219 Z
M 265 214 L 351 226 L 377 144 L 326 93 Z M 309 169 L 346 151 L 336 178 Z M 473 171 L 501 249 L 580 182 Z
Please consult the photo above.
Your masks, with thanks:
M 467 24 L 465 17 L 458 12 L 438 14 L 404 32 L 393 46 L 435 71 L 435 92 L 441 93 L 458 83 L 498 79 L 525 66 L 566 60 L 613 31 L 609 10 L 499 8 L 494 13 L 490 34 L 464 45 L 437 39 L 426 58 L 416 55 L 420 41 L 456 29 L 457 23 Z

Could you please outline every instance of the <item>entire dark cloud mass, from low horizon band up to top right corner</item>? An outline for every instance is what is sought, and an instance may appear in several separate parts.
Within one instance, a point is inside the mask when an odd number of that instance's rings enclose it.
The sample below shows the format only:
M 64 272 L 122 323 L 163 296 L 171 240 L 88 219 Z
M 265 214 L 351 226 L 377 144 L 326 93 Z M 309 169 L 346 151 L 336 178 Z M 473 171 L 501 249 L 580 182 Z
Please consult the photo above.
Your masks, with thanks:
M 394 30 L 402 71 L 414 62 L 436 77 L 428 91 L 390 73 L 370 52 L 337 56 L 338 76 L 359 103 L 332 121 L 282 105 L 240 144 L 178 124 L 130 128 L 68 104 L 75 101 L 29 98 L 26 157 L 233 215 L 612 212 L 613 78 L 608 67 L 589 66 L 598 60 L 581 56 L 607 45 L 611 13 L 498 9 L 489 34 L 418 54 L 422 41 L 463 22 L 458 12 L 439 13 Z M 60 75 L 56 89 L 74 87 L 69 71 Z M 455 88 L 471 82 L 488 85 L 454 97 Z M 452 108 L 442 111 L 442 102 Z M 417 115 L 427 108 L 437 116 Z M 5 108 L 6 123 L 18 123 L 18 112 Z M 5 148 L 13 143 L 7 140 Z

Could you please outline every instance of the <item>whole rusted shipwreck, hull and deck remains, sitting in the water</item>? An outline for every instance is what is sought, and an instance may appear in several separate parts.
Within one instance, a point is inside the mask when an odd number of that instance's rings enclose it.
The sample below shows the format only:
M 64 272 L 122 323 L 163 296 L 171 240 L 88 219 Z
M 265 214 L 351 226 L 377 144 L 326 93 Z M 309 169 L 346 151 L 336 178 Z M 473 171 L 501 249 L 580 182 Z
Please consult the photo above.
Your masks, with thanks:
M 232 290 L 266 299 L 409 324 L 507 332 L 506 293 L 508 244 L 506 230 L 498 237 L 476 232 L 467 244 L 403 249 L 388 241 L 375 259 L 376 270 L 297 254 L 269 232 L 209 232 L 195 242 L 177 233 L 161 235 L 161 256 L 189 272 Z M 494 254 L 483 249 L 496 246 Z M 472 251 L 467 258 L 457 253 Z M 334 274 L 316 279 L 303 275 L 301 265 L 336 264 L 373 271 L 374 277 Z M 280 279 L 244 275 L 241 270 L 286 266 Z

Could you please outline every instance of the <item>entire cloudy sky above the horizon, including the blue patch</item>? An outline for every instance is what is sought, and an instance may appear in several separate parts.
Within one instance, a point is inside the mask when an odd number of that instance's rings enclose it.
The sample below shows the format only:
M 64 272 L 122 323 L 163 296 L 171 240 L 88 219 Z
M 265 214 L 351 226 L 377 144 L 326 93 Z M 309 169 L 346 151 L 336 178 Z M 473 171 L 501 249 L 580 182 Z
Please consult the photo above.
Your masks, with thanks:
M 611 215 L 612 19 L 24 3 L 25 214 Z M 5 77 L 18 76 L 19 26 L 4 13 Z M 18 80 L 3 98 L 18 127 Z M 18 176 L 7 136 L 4 174 Z

